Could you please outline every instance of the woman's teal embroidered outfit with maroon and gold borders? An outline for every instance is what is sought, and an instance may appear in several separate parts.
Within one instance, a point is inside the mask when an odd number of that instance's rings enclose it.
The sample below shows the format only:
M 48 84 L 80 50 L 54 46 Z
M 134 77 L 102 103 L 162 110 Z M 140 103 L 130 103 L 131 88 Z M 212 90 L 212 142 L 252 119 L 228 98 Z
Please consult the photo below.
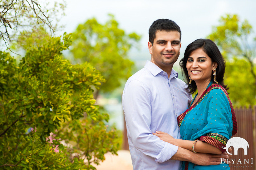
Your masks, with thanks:
M 231 136 L 236 134 L 237 123 L 227 91 L 220 85 L 211 84 L 212 82 L 198 101 L 177 118 L 180 135 L 185 140 L 198 139 L 207 142 L 224 152 L 225 149 L 222 146 L 225 147 Z M 183 163 L 185 170 L 215 170 L 216 168 L 230 169 L 225 163 L 211 166 Z

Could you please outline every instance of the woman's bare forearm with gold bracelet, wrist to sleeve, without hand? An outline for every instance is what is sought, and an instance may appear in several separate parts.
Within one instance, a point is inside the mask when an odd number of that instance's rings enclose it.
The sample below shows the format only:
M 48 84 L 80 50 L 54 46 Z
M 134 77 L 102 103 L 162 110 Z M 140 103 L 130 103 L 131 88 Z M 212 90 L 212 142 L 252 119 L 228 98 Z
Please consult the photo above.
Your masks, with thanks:
M 194 143 L 194 140 L 176 139 L 174 145 L 193 151 L 192 150 L 193 143 Z M 200 140 L 194 144 L 194 151 L 200 152 L 200 153 L 214 153 L 214 154 L 222 153 L 221 150 L 219 150 L 215 146 Z

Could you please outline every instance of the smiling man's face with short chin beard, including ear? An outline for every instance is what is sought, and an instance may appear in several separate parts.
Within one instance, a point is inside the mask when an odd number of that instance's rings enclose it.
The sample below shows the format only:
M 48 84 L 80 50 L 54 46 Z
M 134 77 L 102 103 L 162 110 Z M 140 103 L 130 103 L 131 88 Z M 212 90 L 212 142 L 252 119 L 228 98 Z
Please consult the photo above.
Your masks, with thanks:
M 162 70 L 172 68 L 180 55 L 180 33 L 178 31 L 157 31 L 154 44 L 148 42 L 151 62 Z

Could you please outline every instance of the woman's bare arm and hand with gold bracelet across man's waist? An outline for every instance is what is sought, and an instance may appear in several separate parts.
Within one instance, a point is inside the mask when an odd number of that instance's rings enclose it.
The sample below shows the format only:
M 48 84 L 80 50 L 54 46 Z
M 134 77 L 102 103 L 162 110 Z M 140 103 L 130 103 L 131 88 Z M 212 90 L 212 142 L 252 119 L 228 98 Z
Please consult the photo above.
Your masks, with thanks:
M 171 135 L 165 133 L 165 132 L 160 132 L 160 131 L 155 131 L 156 133 L 153 133 L 153 135 L 158 136 L 161 140 L 168 142 L 170 144 L 174 144 L 176 146 L 179 146 L 181 148 L 185 148 L 188 150 L 192 150 L 192 145 L 194 143 L 194 140 L 183 140 L 183 139 L 175 139 Z M 215 146 L 208 144 L 207 142 L 204 141 L 197 141 L 194 144 L 194 151 L 195 152 L 200 152 L 200 153 L 214 153 L 214 154 L 221 154 L 222 151 L 216 148 Z

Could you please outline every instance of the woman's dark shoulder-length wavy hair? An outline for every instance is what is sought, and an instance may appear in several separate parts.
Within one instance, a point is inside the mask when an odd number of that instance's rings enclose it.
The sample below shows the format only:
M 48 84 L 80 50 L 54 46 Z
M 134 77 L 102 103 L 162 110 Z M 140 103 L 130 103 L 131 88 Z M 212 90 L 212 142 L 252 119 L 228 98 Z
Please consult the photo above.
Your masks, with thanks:
M 224 85 L 224 78 L 223 78 L 225 73 L 225 67 L 226 67 L 225 60 L 221 55 L 217 45 L 212 40 L 209 40 L 209 39 L 197 39 L 194 42 L 190 43 L 185 50 L 184 58 L 180 60 L 180 67 L 182 68 L 182 71 L 183 71 L 183 78 L 188 85 L 187 90 L 191 94 L 193 94 L 197 90 L 197 87 L 194 81 L 192 81 L 191 84 L 189 84 L 187 61 L 191 52 L 199 48 L 201 48 L 212 59 L 212 62 L 218 63 L 218 66 L 216 68 L 216 79 L 217 79 L 217 82 L 219 82 L 219 85 L 221 85 L 227 90 L 228 88 L 226 85 Z M 212 74 L 211 80 L 214 82 L 213 74 Z

